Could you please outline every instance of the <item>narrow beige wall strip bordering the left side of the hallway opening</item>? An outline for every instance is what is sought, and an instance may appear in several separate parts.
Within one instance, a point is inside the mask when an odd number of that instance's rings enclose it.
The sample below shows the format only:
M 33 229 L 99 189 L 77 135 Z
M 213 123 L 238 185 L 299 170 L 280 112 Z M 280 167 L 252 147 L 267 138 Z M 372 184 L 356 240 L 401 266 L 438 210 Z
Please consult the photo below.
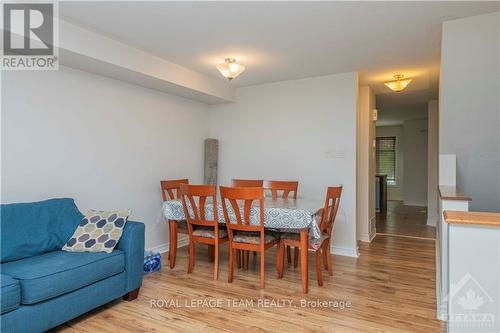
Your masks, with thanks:
M 358 161 L 357 161 L 357 229 L 358 239 L 370 242 L 375 237 L 375 95 L 368 86 L 359 87 Z

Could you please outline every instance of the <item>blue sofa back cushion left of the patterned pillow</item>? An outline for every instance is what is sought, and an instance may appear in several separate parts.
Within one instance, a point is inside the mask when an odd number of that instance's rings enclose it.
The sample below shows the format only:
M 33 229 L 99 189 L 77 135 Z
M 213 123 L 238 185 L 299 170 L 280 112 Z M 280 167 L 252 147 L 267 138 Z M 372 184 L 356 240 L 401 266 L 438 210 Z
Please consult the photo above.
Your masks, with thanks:
M 68 198 L 2 204 L 0 211 L 2 263 L 60 250 L 83 218 Z

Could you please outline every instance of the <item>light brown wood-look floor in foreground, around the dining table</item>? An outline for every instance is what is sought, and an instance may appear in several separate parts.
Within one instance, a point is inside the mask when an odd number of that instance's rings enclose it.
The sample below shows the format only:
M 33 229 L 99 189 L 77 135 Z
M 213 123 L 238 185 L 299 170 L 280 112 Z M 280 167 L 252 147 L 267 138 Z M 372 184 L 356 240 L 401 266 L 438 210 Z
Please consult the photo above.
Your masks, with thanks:
M 445 326 L 435 319 L 434 246 L 432 240 L 377 235 L 372 243 L 360 244 L 358 259 L 333 256 L 333 276 L 325 271 L 321 288 L 310 254 L 307 295 L 302 293 L 300 267 L 285 266 L 283 279 L 276 278 L 274 249 L 266 251 L 266 286 L 260 290 L 258 260 L 250 260 L 248 270 L 236 269 L 234 282 L 229 284 L 226 246 L 221 251 L 218 281 L 212 280 L 206 247 L 197 248 L 192 274 L 186 272 L 187 248 L 182 248 L 173 270 L 163 256 L 163 270 L 144 278 L 137 300 L 117 300 L 54 331 L 442 332 Z M 172 300 L 178 307 L 165 304 Z M 197 300 L 221 300 L 222 304 L 193 306 L 191 302 Z M 345 301 L 351 306 L 301 307 L 303 302 L 318 300 Z M 271 306 L 273 301 L 284 307 Z M 154 307 L 152 302 L 164 306 Z

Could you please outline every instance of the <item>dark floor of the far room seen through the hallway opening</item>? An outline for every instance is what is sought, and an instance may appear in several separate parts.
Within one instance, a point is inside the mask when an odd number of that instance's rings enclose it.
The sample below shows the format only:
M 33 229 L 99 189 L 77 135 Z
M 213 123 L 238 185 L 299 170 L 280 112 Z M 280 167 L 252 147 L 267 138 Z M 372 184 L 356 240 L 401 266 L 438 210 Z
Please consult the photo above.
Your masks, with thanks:
M 387 213 L 377 213 L 377 233 L 436 239 L 436 228 L 427 225 L 427 208 L 388 201 Z

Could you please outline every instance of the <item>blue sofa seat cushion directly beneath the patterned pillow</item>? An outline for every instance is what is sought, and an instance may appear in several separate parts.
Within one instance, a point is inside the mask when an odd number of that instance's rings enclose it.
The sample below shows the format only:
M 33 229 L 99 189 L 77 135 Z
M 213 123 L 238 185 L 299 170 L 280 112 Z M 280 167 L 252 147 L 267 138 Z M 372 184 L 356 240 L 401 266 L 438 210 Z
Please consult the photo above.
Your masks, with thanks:
M 35 304 L 125 270 L 123 251 L 48 252 L 2 264 L 2 273 L 19 280 L 21 304 Z M 91 296 L 89 296 L 91 297 Z

